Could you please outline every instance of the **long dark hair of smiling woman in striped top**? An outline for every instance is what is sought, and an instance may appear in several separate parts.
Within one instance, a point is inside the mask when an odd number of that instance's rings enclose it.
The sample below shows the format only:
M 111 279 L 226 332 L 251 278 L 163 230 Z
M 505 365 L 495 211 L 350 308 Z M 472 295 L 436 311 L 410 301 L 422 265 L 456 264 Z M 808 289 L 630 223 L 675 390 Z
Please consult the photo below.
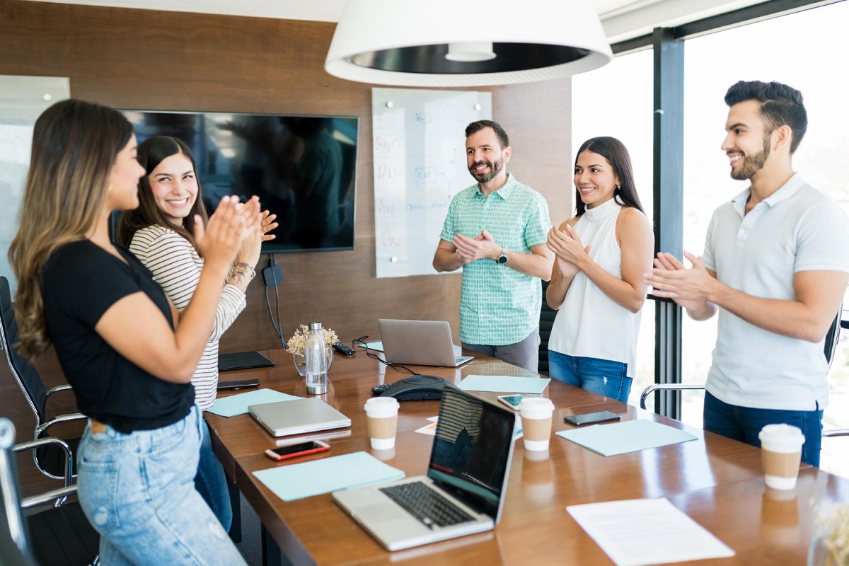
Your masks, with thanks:
M 203 199 L 201 199 L 200 180 L 198 181 L 198 196 L 194 199 L 192 210 L 183 218 L 180 227 L 174 227 L 168 221 L 160 207 L 156 205 L 153 190 L 150 188 L 150 174 L 163 160 L 176 154 L 183 154 L 188 157 L 188 160 L 192 162 L 194 177 L 197 179 L 197 166 L 194 165 L 192 150 L 188 149 L 188 145 L 182 139 L 171 136 L 153 136 L 138 144 L 138 162 L 142 164 L 147 173 L 138 182 L 138 208 L 125 210 L 121 213 L 121 220 L 118 222 L 117 230 L 115 230 L 115 242 L 117 244 L 128 248 L 132 242 L 132 237 L 138 230 L 149 226 L 164 226 L 186 238 L 194 246 L 194 249 L 198 248 L 194 241 L 194 215 L 200 215 L 204 224 L 209 218 Z M 200 253 L 200 250 L 198 251 Z

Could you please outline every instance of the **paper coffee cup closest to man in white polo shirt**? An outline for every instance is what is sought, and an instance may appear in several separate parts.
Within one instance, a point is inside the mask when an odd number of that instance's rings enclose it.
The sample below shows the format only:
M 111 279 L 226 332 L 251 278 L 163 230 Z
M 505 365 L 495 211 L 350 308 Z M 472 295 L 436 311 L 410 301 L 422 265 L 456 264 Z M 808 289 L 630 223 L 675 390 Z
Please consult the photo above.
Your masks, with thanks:
M 796 487 L 805 435 L 791 424 L 767 424 L 757 437 L 761 440 L 764 480 L 773 490 Z

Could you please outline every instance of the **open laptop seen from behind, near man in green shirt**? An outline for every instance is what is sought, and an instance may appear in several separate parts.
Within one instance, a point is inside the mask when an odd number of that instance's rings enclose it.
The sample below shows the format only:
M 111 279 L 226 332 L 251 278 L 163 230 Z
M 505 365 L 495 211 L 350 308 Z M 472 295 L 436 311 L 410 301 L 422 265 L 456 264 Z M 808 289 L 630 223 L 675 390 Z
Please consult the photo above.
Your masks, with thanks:
M 377 322 L 383 355 L 390 363 L 458 367 L 474 360 L 454 350 L 451 327 L 445 321 L 408 321 L 381 318 Z

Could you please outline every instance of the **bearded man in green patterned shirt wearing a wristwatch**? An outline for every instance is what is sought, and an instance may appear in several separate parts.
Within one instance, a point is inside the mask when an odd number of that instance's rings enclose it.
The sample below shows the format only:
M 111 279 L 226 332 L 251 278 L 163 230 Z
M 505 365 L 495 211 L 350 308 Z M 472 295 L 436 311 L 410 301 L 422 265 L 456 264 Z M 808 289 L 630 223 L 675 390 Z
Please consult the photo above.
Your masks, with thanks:
M 551 221 L 543 195 L 504 169 L 510 153 L 498 122 L 466 127 L 466 163 L 477 183 L 451 201 L 433 266 L 437 272 L 463 267 L 463 347 L 536 373 L 539 280 L 548 281 L 554 263 L 546 245 Z

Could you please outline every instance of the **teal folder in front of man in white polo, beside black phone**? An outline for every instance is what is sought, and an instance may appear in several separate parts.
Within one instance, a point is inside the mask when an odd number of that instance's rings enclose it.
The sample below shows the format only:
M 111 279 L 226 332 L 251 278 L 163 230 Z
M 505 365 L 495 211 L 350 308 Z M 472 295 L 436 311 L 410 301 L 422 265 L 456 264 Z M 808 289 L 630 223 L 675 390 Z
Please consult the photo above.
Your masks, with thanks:
M 560 430 L 557 435 L 602 456 L 616 456 L 696 439 L 693 434 L 681 429 L 642 418 L 621 423 L 594 424 L 582 429 Z

